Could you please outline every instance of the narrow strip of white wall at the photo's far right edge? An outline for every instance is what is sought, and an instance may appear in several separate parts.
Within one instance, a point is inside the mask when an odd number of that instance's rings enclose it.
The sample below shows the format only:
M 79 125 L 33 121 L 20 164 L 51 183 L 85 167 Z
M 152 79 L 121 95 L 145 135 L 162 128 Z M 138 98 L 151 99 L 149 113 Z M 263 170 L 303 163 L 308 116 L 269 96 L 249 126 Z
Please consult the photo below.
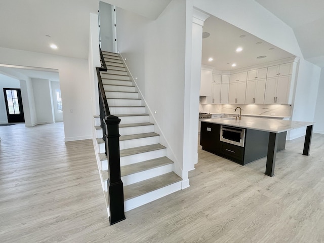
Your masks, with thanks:
M 313 132 L 324 134 L 324 68 L 321 69 L 319 86 L 318 86 L 318 94 L 317 94 L 317 102 L 315 109 L 315 125 Z

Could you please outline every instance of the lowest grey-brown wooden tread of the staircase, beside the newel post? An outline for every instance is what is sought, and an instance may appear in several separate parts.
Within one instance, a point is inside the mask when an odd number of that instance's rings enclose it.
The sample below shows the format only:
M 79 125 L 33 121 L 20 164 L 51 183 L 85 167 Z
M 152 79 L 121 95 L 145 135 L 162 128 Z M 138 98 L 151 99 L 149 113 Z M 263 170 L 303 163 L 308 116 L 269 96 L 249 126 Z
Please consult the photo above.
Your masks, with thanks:
M 179 177 L 176 173 L 170 172 L 161 176 L 156 176 L 151 179 L 124 186 L 124 199 L 128 200 L 181 180 L 181 177 Z

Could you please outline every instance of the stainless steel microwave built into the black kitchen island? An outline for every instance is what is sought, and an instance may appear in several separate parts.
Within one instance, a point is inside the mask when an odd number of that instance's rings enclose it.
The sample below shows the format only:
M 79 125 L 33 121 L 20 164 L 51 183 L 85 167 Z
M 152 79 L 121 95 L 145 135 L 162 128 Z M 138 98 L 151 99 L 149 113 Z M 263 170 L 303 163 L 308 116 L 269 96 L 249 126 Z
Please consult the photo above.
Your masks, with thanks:
M 245 129 L 221 125 L 220 141 L 244 147 Z

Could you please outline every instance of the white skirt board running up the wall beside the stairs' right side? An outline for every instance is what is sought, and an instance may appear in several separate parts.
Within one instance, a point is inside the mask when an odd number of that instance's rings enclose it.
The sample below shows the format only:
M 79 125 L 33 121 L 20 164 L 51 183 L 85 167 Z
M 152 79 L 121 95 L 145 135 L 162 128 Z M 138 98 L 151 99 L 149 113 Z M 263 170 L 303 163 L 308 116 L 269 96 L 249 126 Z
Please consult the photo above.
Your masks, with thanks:
M 126 66 L 126 69 L 128 70 L 131 80 L 135 85 L 135 91 L 138 92 L 139 98 L 141 98 L 142 102 L 144 102 L 143 105 L 145 105 L 145 109 L 147 110 L 147 113 L 149 114 L 150 122 L 154 124 L 154 132 L 160 135 L 160 144 L 166 146 L 167 157 L 169 157 L 171 160 L 173 160 L 175 162 L 174 163 L 174 172 L 182 178 L 181 189 L 185 189 L 185 188 L 189 187 L 190 185 L 189 185 L 188 172 L 185 173 L 179 166 L 180 159 L 175 155 L 173 149 L 170 146 L 170 143 L 166 139 L 166 136 L 164 135 L 163 131 L 161 130 L 159 124 L 157 123 L 154 113 L 152 112 L 152 110 L 150 109 L 150 106 L 146 102 L 145 97 L 143 96 L 141 90 L 139 89 L 139 87 L 135 81 L 136 79 L 133 77 L 127 63 L 125 62 L 125 58 L 123 57 L 123 55 L 121 55 L 121 53 L 119 51 L 118 51 L 118 54 L 120 55 L 121 60 L 123 61 L 124 65 Z

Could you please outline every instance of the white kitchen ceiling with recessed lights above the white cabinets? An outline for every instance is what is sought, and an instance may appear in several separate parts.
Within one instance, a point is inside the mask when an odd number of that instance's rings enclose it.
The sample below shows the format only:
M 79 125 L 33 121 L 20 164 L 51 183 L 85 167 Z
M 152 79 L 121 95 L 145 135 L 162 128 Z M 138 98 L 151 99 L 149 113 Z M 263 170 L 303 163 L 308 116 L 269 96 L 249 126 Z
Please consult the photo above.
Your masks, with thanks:
M 210 33 L 210 36 L 203 38 L 201 63 L 220 71 L 230 71 L 293 57 L 292 54 L 214 16 L 204 22 L 203 32 Z M 241 35 L 245 37 L 239 37 Z M 239 53 L 236 52 L 238 47 L 243 49 Z M 259 56 L 266 57 L 258 59 Z M 208 61 L 209 58 L 214 60 Z M 236 64 L 235 67 L 231 66 L 233 63 Z

